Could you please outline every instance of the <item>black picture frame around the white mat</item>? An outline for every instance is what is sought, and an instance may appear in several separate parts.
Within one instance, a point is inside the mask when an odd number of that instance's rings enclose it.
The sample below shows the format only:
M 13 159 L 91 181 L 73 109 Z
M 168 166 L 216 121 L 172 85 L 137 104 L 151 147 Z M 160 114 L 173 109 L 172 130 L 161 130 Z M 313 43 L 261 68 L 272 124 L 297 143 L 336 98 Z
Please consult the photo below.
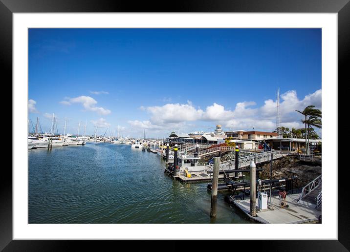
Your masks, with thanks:
M 12 14 L 30 12 L 280 12 L 280 13 L 338 13 L 338 98 L 346 101 L 350 59 L 350 3 L 349 0 L 177 0 L 132 1 L 110 0 L 0 0 L 0 61 L 2 80 L 12 83 Z M 348 63 L 348 64 L 347 64 Z M 5 77 L 5 78 L 4 78 Z M 6 78 L 7 77 L 7 78 Z M 342 92 L 339 92 L 341 90 Z M 345 91 L 345 92 L 344 92 Z M 339 108 L 340 108 L 339 103 Z M 339 124 L 338 122 L 338 125 Z M 340 128 L 339 128 L 340 130 Z M 14 132 L 12 132 L 14 133 Z M 338 139 L 338 136 L 334 136 Z M 11 148 L 12 149 L 12 148 Z M 339 146 L 338 156 L 346 149 Z M 343 154 L 343 155 L 342 155 Z M 343 167 L 346 168 L 347 167 Z M 338 169 L 338 164 L 333 167 Z M 348 251 L 350 250 L 349 200 L 346 169 L 338 169 L 338 240 L 317 241 L 254 241 L 262 251 Z M 3 251 L 65 251 L 73 245 L 81 248 L 81 241 L 13 241 L 12 240 L 12 170 L 3 166 L 0 175 L 0 250 Z M 336 193 L 334 195 L 337 195 Z M 345 200 L 346 199 L 346 200 Z M 302 224 L 299 224 L 302 225 Z M 286 230 L 284 230 L 286 231 Z M 271 234 L 273 238 L 273 234 Z M 169 249 L 175 248 L 167 244 Z M 218 243 L 217 243 L 218 244 Z M 231 243 L 233 246 L 233 243 Z M 86 245 L 86 243 L 85 243 Z M 90 249 L 95 247 L 88 242 Z M 127 244 L 125 244 L 127 245 Z M 207 247 L 207 243 L 202 243 Z M 97 242 L 96 249 L 101 249 Z M 123 247 L 124 245 L 122 245 Z M 144 246 L 144 245 L 142 245 Z M 149 245 L 147 245 L 149 246 Z M 197 244 L 197 249 L 202 249 Z M 232 248 L 237 249 L 237 248 Z

